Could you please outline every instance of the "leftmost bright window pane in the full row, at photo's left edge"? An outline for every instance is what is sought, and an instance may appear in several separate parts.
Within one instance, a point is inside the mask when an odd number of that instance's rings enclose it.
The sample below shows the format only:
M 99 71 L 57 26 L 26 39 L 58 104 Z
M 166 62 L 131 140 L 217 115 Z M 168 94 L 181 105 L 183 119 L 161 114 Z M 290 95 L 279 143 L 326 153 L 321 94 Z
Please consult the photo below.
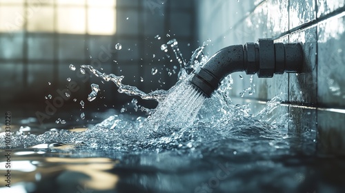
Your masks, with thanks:
M 0 32 L 23 30 L 23 6 L 0 6 Z

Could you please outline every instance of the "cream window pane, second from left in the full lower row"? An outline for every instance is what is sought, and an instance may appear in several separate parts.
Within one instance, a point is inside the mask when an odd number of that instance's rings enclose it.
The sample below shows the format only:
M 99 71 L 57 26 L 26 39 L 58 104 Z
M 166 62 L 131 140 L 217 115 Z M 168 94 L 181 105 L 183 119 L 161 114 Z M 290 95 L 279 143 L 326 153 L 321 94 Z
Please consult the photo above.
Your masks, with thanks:
M 31 32 L 53 32 L 54 31 L 54 9 L 43 6 L 39 10 L 28 9 L 28 31 Z

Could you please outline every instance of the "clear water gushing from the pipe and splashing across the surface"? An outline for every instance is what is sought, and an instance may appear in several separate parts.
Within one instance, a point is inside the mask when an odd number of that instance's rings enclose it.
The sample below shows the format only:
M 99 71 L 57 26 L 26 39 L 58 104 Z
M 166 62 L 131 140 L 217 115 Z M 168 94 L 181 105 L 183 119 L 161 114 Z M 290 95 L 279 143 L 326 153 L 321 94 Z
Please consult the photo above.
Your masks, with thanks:
M 170 45 L 175 46 L 173 41 Z M 204 65 L 208 59 L 202 52 L 205 46 L 204 43 L 195 50 L 188 64 L 184 63 L 184 59 L 180 56 L 179 59 L 184 65 L 182 70 L 191 68 L 197 71 Z M 175 56 L 179 57 L 178 52 Z M 137 105 L 137 99 L 132 99 L 132 105 L 136 111 L 140 109 L 150 114 L 147 119 L 141 116 L 127 117 L 120 116 L 122 114 L 113 114 L 97 125 L 90 125 L 83 132 L 49 130 L 43 134 L 12 134 L 12 147 L 27 148 L 37 144 L 65 143 L 77 148 L 117 150 L 134 154 L 146 151 L 184 152 L 186 150 L 199 156 L 202 156 L 203 152 L 215 150 L 220 151 L 219 154 L 221 154 L 221 148 L 231 149 L 239 154 L 258 150 L 272 153 L 277 151 L 277 144 L 280 148 L 284 145 L 288 147 L 288 144 L 282 141 L 286 138 L 286 130 L 277 130 L 280 125 L 271 125 L 266 121 L 256 119 L 277 108 L 279 99 L 269 103 L 266 110 L 258 114 L 250 114 L 248 105 L 231 103 L 227 94 L 233 84 L 230 76 L 224 79 L 212 98 L 205 99 L 193 88 L 193 85 L 190 85 L 188 72 L 184 72 L 186 76 L 181 76 L 182 79 L 168 91 L 156 90 L 145 93 L 135 86 L 121 83 L 123 76 L 106 74 L 95 70 L 90 65 L 81 65 L 81 73 L 86 73 L 84 69 L 90 70 L 104 81 L 112 81 L 121 93 L 155 100 L 159 102 L 159 105 L 155 110 L 150 110 Z M 99 90 L 99 87 L 96 90 Z M 83 105 L 81 101 L 81 106 Z M 126 111 L 126 108 L 123 109 Z M 86 119 L 83 112 L 80 117 Z M 270 120 L 270 123 L 274 121 L 282 123 L 279 119 L 287 120 L 286 117 L 279 116 L 278 120 Z M 4 137 L 0 134 L 1 140 Z M 262 137 L 264 141 L 259 145 L 255 141 L 250 141 L 255 137 Z M 1 145 L 3 143 L 0 143 L 0 148 L 3 148 Z M 49 147 L 49 145 L 46 146 Z

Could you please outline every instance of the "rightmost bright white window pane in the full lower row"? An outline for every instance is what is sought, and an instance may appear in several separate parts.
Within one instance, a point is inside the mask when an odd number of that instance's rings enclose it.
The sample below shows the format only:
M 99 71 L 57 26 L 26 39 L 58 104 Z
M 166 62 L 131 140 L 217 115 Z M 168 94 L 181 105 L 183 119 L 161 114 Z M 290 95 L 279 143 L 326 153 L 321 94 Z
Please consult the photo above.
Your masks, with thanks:
M 88 33 L 89 34 L 115 34 L 114 8 L 89 8 Z

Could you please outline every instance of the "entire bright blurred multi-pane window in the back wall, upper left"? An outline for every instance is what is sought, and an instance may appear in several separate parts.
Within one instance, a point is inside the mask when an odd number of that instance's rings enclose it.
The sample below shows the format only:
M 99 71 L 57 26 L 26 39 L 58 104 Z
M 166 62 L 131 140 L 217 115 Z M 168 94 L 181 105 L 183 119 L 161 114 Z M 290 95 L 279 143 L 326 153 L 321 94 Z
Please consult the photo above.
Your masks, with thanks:
M 116 0 L 0 0 L 0 32 L 111 35 L 115 6 Z

